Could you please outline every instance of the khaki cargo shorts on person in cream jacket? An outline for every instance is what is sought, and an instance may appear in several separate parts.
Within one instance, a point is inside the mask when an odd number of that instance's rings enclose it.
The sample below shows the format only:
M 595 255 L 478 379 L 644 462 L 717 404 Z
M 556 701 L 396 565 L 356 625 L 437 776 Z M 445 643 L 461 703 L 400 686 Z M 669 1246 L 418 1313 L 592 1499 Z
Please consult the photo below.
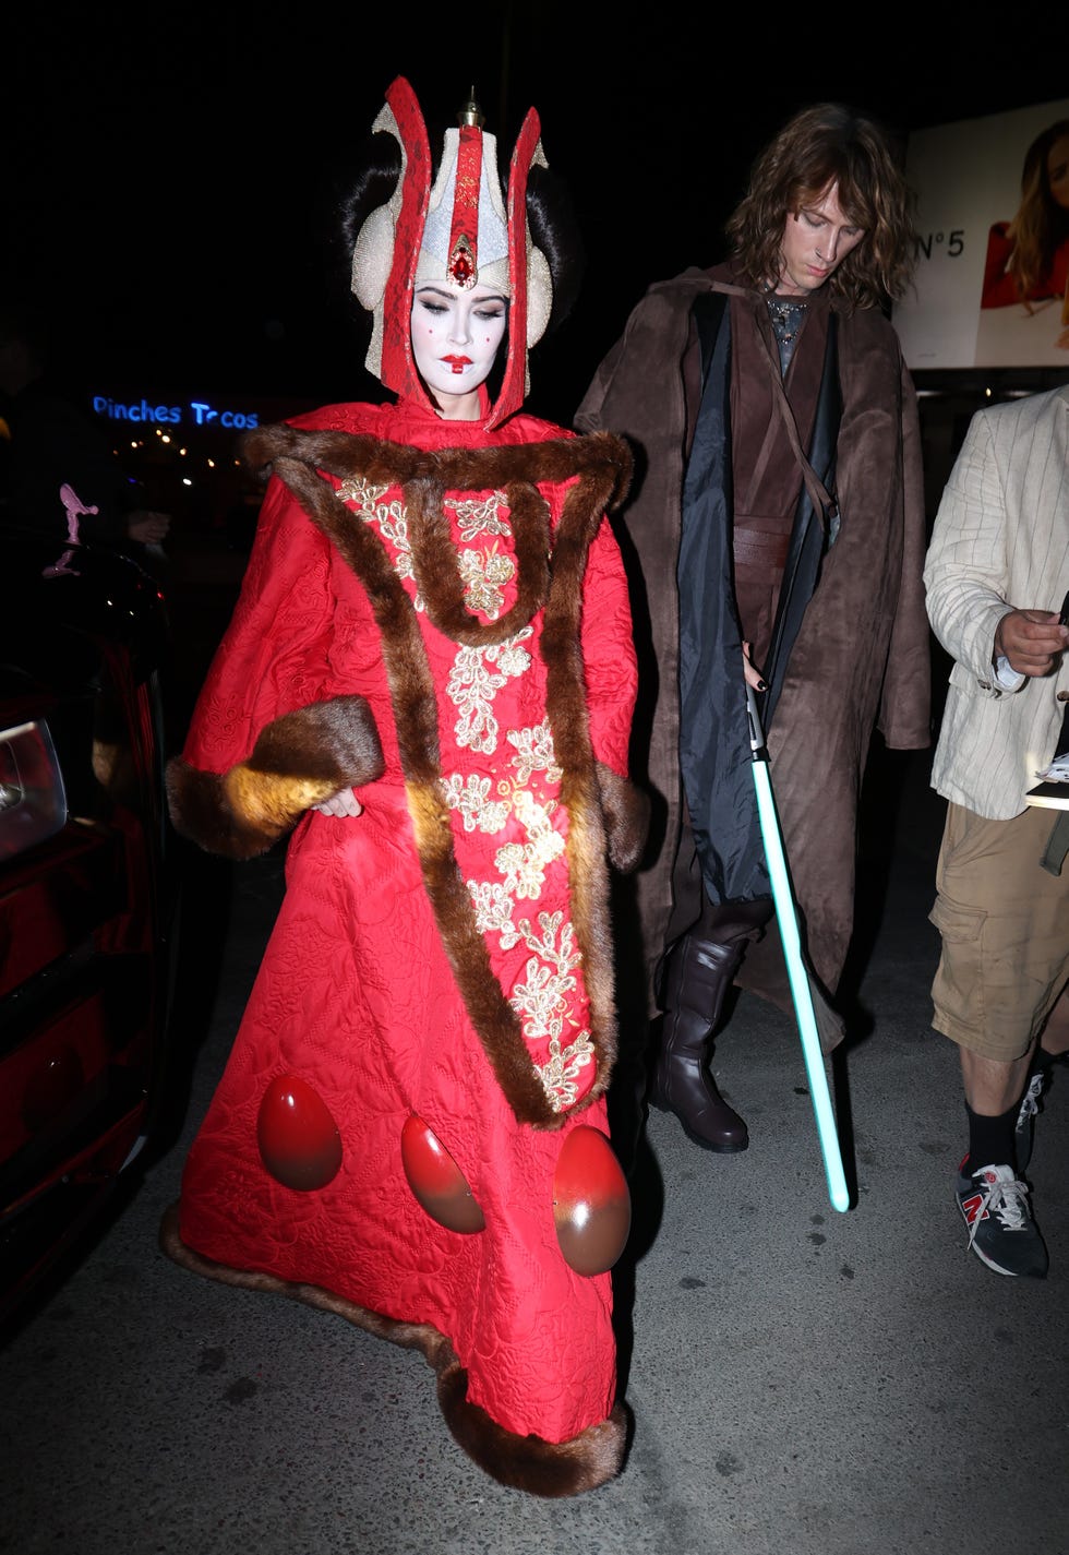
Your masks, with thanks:
M 980 1057 L 1022 1057 L 1069 980 L 1069 858 L 1039 866 L 1057 812 L 985 821 L 946 810 L 929 913 L 943 949 L 932 1026 Z

